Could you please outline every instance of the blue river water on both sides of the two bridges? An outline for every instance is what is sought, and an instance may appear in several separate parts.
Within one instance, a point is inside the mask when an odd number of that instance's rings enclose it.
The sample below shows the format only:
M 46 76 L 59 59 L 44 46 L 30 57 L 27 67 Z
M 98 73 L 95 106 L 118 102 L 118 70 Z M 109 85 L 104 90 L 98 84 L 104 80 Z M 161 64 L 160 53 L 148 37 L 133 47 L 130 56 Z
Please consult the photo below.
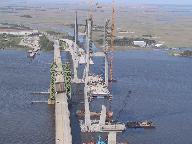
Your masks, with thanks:
M 54 107 L 47 96 L 53 53 L 35 60 L 19 50 L 0 51 L 0 144 L 53 144 Z M 119 136 L 131 144 L 192 143 L 192 59 L 163 51 L 117 52 L 114 57 L 114 118 L 152 120 L 155 129 L 130 129 Z M 129 93 L 130 92 L 130 93 Z

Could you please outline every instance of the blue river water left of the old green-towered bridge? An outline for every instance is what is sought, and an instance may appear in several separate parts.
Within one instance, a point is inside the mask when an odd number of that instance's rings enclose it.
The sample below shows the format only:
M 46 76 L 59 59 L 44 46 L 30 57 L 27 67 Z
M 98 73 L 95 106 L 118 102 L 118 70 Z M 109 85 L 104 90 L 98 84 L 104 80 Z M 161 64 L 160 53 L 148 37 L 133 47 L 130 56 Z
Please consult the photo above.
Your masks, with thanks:
M 0 50 L 0 144 L 53 144 L 54 107 L 32 92 L 47 91 L 52 53 L 42 53 L 34 61 L 26 52 Z

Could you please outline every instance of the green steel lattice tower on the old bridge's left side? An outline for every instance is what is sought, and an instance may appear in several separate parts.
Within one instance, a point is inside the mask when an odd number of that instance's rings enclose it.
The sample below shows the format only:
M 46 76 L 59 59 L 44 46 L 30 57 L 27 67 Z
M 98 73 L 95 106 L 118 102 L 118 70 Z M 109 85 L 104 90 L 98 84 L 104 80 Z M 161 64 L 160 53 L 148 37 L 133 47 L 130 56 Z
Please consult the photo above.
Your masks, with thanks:
M 54 62 L 51 64 L 50 73 L 51 73 L 51 81 L 50 81 L 49 99 L 55 100 L 55 64 Z

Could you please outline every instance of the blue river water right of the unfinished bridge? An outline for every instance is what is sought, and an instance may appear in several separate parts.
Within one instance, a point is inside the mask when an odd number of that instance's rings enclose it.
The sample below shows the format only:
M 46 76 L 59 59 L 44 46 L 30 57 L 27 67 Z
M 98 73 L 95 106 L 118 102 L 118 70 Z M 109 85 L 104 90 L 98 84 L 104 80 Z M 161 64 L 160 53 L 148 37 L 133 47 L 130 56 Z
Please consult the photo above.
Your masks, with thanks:
M 154 130 L 128 130 L 123 138 L 131 144 L 191 144 L 192 59 L 129 51 L 117 53 L 114 63 L 113 110 L 124 106 L 119 119 L 149 119 L 156 125 Z

